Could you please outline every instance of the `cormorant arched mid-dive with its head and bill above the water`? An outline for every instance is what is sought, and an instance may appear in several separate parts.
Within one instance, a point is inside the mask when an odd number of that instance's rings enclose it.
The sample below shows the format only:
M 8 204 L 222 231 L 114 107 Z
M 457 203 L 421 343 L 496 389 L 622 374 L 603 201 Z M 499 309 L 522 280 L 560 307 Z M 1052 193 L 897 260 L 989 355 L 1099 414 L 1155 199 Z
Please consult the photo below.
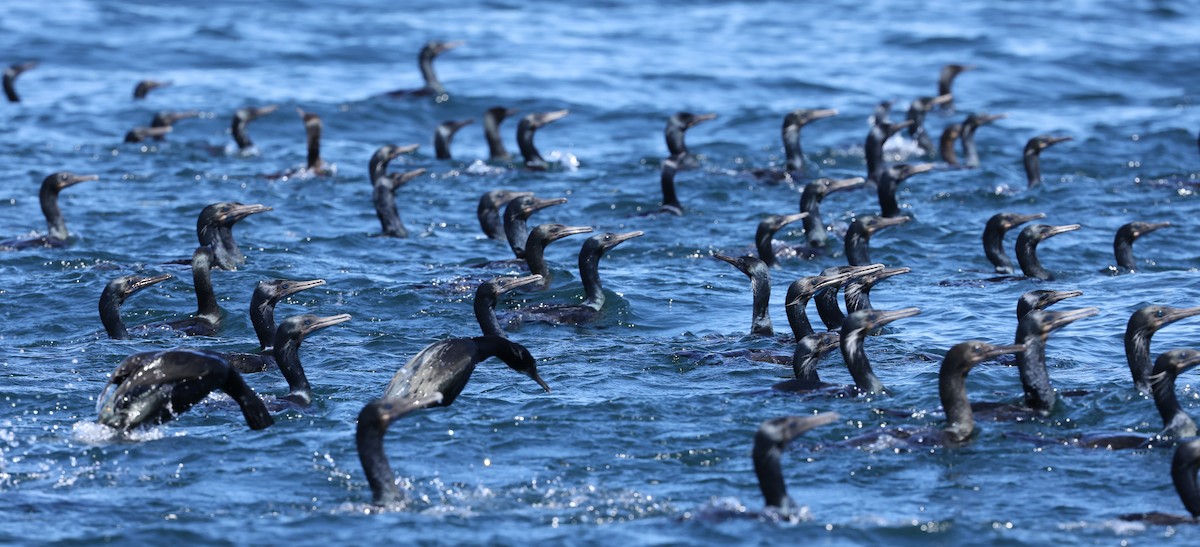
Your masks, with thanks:
M 498 336 L 450 338 L 426 345 L 396 372 L 384 390 L 384 398 L 427 398 L 442 393 L 434 407 L 449 407 L 475 372 L 475 365 L 498 357 L 509 368 L 533 378 L 541 389 L 550 386 L 538 375 L 538 361 L 524 345 Z

